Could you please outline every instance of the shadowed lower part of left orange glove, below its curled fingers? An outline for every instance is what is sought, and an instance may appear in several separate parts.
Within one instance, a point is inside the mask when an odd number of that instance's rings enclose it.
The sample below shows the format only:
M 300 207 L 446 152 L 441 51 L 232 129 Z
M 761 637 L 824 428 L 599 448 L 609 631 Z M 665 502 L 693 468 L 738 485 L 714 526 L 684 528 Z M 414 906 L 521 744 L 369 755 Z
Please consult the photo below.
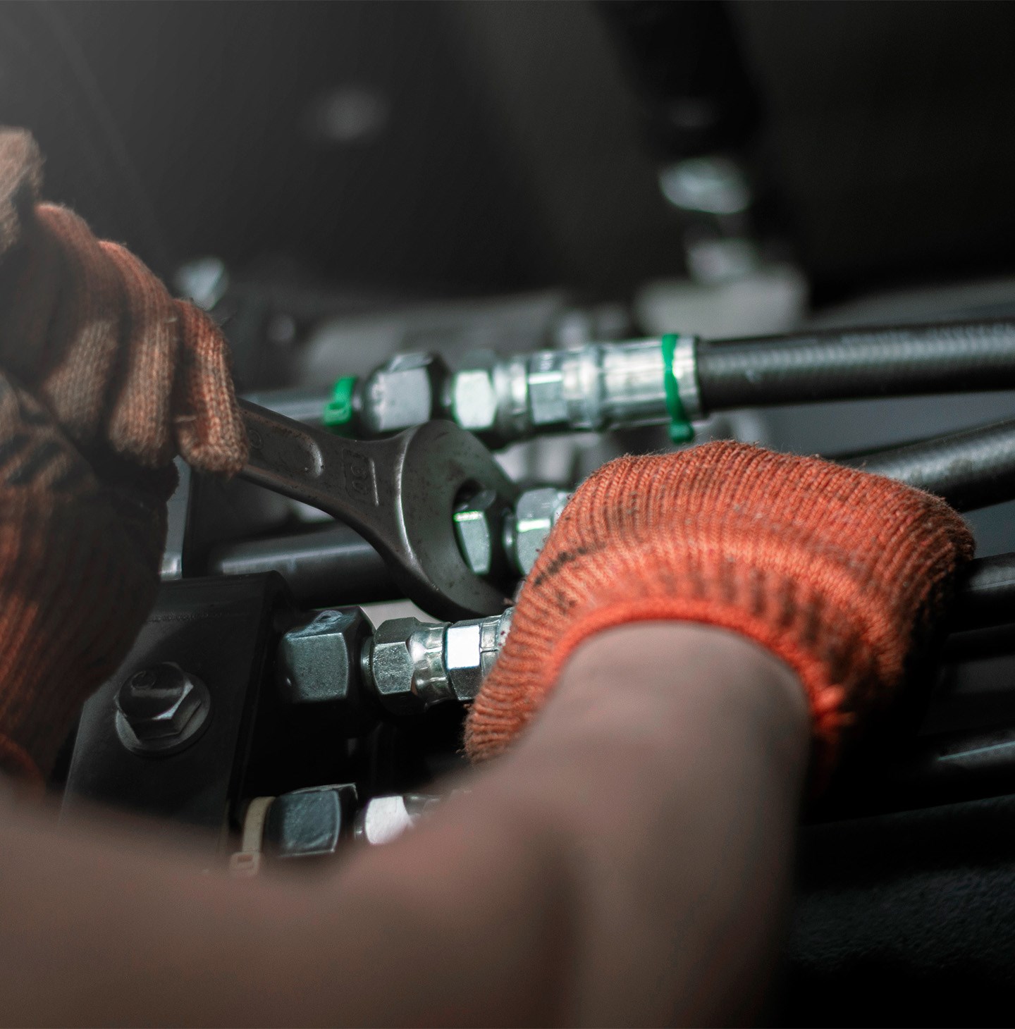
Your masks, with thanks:
M 159 587 L 176 469 L 110 461 L 102 474 L 0 376 L 0 769 L 30 779 L 48 774 Z

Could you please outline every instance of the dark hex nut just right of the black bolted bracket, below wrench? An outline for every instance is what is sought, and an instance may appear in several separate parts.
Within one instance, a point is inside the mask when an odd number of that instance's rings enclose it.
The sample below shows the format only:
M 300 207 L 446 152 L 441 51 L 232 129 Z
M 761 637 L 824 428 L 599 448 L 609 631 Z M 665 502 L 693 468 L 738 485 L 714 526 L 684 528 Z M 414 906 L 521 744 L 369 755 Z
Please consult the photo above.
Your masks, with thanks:
M 278 648 L 279 695 L 286 704 L 332 707 L 359 718 L 367 712 L 360 658 L 371 624 L 358 607 L 321 611 L 287 632 Z

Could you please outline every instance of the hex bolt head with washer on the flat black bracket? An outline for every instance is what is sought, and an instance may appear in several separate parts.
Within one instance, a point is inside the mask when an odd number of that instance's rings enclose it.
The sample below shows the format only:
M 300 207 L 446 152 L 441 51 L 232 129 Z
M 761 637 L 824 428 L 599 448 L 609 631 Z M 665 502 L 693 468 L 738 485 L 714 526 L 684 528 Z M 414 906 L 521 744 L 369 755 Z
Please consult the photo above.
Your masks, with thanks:
M 129 676 L 116 694 L 116 733 L 128 750 L 148 756 L 177 753 L 208 724 L 208 687 L 166 662 Z

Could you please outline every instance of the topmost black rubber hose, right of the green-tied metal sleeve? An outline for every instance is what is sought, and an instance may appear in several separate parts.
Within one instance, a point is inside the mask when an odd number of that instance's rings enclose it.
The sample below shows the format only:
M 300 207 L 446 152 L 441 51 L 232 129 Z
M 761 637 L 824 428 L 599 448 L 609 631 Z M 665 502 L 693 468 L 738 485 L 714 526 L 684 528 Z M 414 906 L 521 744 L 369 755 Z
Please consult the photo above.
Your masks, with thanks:
M 705 412 L 1015 388 L 1015 321 L 832 329 L 698 346 Z

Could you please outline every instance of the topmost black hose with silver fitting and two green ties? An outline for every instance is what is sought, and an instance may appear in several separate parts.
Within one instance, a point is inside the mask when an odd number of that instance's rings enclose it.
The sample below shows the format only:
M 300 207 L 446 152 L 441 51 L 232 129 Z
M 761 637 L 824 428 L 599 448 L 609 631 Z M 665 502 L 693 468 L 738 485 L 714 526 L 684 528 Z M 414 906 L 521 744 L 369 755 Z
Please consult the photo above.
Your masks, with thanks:
M 668 422 L 685 442 L 691 422 L 715 411 L 1006 388 L 1015 383 L 1015 322 L 715 342 L 663 335 L 478 363 L 448 374 L 426 355 L 401 355 L 359 383 L 340 380 L 325 421 L 371 437 L 412 417 L 444 416 L 496 446 Z

